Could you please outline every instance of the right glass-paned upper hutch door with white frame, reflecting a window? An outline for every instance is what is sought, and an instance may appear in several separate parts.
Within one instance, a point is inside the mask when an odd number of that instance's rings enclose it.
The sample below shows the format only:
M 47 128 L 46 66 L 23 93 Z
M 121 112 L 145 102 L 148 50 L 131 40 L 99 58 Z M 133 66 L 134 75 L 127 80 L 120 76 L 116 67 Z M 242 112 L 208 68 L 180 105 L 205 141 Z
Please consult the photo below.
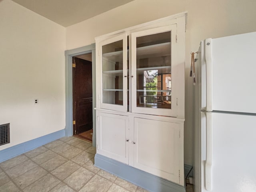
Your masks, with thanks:
M 176 116 L 176 25 L 132 33 L 132 112 Z M 175 91 L 175 90 L 174 90 Z

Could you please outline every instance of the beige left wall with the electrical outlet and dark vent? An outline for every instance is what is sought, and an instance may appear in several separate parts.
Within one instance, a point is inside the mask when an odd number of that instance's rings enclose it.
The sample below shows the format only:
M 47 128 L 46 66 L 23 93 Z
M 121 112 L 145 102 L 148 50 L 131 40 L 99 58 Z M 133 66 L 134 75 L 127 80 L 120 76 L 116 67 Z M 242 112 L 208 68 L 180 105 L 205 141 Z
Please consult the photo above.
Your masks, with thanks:
M 0 124 L 11 140 L 0 150 L 65 128 L 64 51 L 64 27 L 0 0 Z

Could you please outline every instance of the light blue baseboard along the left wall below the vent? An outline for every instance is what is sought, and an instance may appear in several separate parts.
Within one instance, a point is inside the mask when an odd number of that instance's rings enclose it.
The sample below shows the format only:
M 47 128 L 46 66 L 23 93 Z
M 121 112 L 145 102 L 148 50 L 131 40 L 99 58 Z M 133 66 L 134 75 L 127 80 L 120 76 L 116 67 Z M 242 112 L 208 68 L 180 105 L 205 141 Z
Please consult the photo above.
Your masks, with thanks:
M 62 138 L 65 136 L 65 130 L 59 130 L 54 133 L 0 150 L 0 162 L 6 161 L 10 158 L 28 152 L 34 148 L 40 147 L 46 143 L 54 141 L 56 139 Z

